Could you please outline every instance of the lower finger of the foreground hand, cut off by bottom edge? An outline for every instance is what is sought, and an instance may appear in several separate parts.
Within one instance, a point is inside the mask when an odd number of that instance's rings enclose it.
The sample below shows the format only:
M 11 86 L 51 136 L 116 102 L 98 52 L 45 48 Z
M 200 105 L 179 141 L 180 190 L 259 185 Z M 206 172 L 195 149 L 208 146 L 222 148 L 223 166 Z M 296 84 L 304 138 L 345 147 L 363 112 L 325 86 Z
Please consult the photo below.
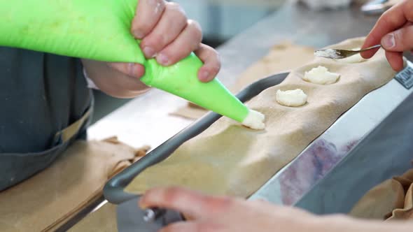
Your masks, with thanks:
M 164 227 L 159 232 L 194 232 L 194 231 L 214 231 L 221 230 L 221 226 L 212 223 L 197 223 L 197 222 L 177 222 Z

